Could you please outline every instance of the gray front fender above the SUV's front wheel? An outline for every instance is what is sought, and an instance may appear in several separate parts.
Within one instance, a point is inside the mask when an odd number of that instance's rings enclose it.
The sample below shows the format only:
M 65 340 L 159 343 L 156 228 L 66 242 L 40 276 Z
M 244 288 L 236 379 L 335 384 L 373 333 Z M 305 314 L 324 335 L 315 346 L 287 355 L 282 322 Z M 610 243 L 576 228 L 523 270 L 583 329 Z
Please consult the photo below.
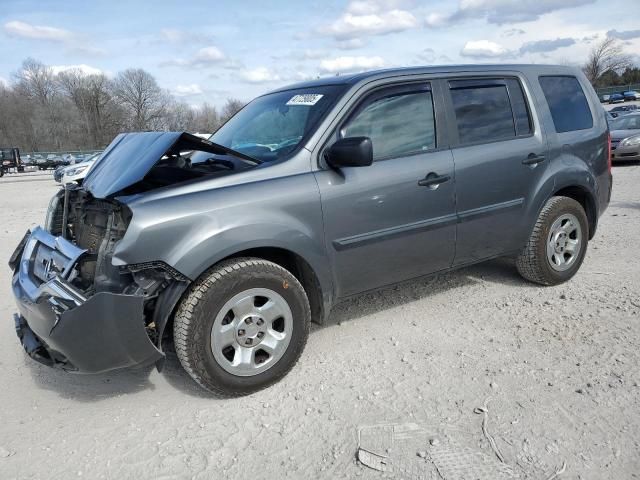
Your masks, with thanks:
M 114 265 L 162 261 L 191 280 L 220 260 L 253 248 L 304 259 L 323 295 L 333 295 L 320 194 L 309 174 L 127 204 L 132 220 Z

